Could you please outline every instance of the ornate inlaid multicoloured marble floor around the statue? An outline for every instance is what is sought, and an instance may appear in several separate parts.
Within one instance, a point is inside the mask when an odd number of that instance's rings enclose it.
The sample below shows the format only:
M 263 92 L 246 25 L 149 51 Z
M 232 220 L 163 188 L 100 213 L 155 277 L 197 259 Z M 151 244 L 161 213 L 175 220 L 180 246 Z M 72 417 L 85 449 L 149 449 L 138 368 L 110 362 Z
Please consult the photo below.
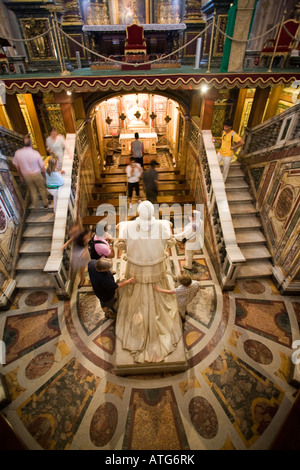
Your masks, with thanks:
M 171 257 L 178 275 L 183 246 Z M 16 296 L 0 315 L 12 400 L 3 411 L 29 449 L 269 448 L 295 399 L 299 298 L 280 296 L 269 280 L 222 294 L 206 253 L 193 277 L 205 289 L 190 305 L 181 373 L 114 374 L 114 320 L 87 275 L 70 301 L 53 291 Z

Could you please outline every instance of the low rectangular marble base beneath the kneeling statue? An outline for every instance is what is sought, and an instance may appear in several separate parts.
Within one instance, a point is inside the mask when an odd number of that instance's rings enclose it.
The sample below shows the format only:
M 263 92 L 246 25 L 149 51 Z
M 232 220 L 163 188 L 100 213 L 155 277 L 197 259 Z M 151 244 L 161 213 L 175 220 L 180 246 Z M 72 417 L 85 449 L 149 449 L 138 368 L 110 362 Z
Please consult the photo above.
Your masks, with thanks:
M 115 367 L 116 375 L 153 374 L 157 372 L 184 372 L 188 368 L 183 337 L 175 351 L 162 362 L 134 362 L 129 351 L 122 348 L 121 341 L 116 338 Z

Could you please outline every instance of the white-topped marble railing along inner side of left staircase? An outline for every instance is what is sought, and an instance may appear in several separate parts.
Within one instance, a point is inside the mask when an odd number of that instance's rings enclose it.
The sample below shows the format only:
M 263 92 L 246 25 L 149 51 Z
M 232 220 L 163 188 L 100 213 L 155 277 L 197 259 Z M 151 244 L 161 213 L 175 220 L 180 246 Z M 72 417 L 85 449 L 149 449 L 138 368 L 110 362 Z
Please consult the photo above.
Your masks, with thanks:
M 86 123 L 83 123 L 77 134 L 67 134 L 66 143 L 71 152 L 64 156 L 64 185 L 59 188 L 57 210 L 55 213 L 50 256 L 44 268 L 52 276 L 56 285 L 56 294 L 60 299 L 69 299 L 72 293 L 74 275 L 70 268 L 71 246 L 65 250 L 62 246 L 68 239 L 70 226 L 78 214 L 78 187 L 80 164 L 88 149 Z

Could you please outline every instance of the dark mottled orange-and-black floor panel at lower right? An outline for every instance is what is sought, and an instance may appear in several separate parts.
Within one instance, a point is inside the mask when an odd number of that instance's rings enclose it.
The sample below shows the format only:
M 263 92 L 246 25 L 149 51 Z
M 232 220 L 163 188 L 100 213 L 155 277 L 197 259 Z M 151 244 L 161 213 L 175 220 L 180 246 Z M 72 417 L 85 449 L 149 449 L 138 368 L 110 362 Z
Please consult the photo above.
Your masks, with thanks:
M 284 392 L 229 351 L 202 373 L 244 444 L 251 447 L 274 418 Z

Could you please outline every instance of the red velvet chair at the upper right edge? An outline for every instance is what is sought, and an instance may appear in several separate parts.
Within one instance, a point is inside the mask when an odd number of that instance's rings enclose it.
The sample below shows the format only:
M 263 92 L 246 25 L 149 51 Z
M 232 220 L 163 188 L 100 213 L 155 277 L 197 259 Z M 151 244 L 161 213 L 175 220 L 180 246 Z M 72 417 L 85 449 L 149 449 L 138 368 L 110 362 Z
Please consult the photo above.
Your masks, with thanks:
M 299 21 L 287 20 L 283 24 L 292 36 L 297 37 L 297 33 L 299 29 Z M 295 41 L 287 33 L 285 28 L 283 26 L 282 27 L 278 26 L 275 39 L 269 39 L 265 43 L 260 53 L 259 65 L 258 65 L 259 67 L 264 67 L 264 66 L 268 67 L 273 57 L 273 54 L 274 54 L 274 59 L 275 57 L 282 57 L 281 68 L 284 67 L 293 49 L 293 45 L 295 43 Z M 278 34 L 279 34 L 279 39 L 278 39 L 278 43 L 276 46 Z M 275 47 L 276 47 L 276 50 L 275 50 Z

